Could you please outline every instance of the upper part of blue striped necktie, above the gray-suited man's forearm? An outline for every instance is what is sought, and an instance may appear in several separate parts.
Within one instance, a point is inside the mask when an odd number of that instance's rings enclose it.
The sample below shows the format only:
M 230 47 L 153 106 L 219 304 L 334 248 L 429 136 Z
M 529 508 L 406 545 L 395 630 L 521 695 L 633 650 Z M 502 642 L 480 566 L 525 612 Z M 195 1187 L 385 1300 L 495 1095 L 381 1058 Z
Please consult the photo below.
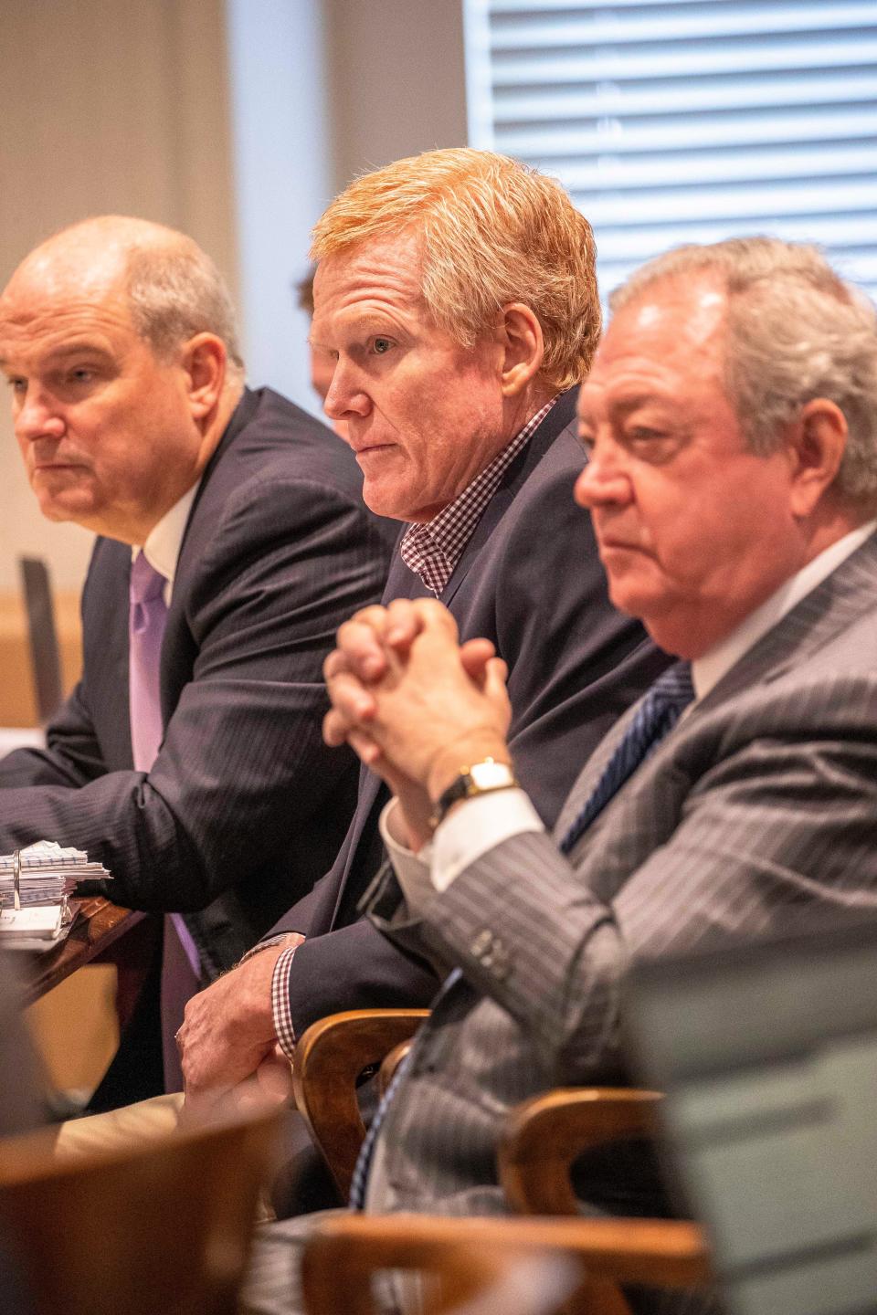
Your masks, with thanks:
M 563 853 L 569 853 L 597 814 L 602 813 L 639 764 L 676 726 L 684 709 L 693 698 L 694 685 L 692 684 L 690 663 L 677 661 L 668 667 L 663 676 L 659 676 L 634 713 L 630 726 L 615 746 L 613 756 L 604 768 L 604 775 L 597 781 L 579 817 L 560 842 Z

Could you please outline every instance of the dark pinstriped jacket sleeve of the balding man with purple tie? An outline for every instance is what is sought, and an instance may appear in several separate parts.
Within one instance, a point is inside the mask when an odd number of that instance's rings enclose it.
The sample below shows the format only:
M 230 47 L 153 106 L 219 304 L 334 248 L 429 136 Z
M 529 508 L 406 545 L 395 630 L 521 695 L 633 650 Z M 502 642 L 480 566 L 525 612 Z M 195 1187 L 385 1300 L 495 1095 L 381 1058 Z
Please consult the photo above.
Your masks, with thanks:
M 79 846 L 135 909 L 201 909 L 246 881 L 351 771 L 322 744 L 321 665 L 337 626 L 380 597 L 387 556 L 354 498 L 306 479 L 243 481 L 185 604 L 192 676 L 151 772 L 96 775 L 74 696 L 62 727 L 76 753 L 60 752 L 58 734 L 49 755 L 28 759 L 25 782 L 20 755 L 7 764 L 0 849 L 42 836 Z

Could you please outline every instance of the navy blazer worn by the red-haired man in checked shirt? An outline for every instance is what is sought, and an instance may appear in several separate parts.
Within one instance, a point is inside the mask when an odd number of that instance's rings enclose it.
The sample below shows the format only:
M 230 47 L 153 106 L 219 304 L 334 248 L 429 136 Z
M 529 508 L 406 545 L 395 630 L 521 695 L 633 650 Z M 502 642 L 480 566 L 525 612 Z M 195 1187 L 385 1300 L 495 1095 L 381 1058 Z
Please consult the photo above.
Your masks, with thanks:
M 582 760 L 669 660 L 609 602 L 590 517 L 573 504 L 575 396 L 559 398 L 511 463 L 442 593 L 462 639 L 493 640 L 509 665 L 515 771 L 548 825 Z M 426 593 L 397 555 L 384 598 Z M 363 769 L 331 871 L 273 928 L 308 938 L 289 978 L 296 1035 L 337 1010 L 427 1005 L 438 988 L 425 960 L 358 915 L 383 859 L 385 800 Z

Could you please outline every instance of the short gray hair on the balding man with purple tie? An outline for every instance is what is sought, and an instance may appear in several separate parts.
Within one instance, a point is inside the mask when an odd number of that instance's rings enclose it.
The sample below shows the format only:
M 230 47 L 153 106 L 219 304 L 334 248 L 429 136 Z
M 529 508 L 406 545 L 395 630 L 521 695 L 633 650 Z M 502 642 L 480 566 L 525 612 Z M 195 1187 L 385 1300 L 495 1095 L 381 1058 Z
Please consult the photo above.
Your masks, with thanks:
M 191 238 L 175 238 L 129 250 L 125 277 L 134 327 L 162 358 L 197 333 L 216 334 L 225 343 L 231 381 L 242 383 L 243 356 L 225 280 Z

